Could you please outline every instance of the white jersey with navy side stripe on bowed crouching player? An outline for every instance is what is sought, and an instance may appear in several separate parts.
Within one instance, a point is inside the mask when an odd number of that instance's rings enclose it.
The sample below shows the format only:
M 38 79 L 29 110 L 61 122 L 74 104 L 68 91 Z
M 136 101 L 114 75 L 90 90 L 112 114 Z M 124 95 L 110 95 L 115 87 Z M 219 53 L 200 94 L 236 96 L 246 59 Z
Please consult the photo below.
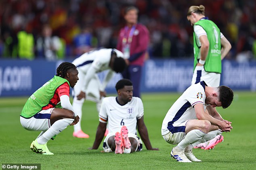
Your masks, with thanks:
M 174 122 L 182 123 L 189 119 L 197 119 L 194 109 L 195 104 L 202 103 L 204 104 L 204 109 L 206 109 L 205 86 L 207 86 L 207 84 L 204 81 L 192 84 L 178 100 L 174 102 L 164 118 L 162 135 L 166 135 L 170 132 L 169 129 L 173 127 Z

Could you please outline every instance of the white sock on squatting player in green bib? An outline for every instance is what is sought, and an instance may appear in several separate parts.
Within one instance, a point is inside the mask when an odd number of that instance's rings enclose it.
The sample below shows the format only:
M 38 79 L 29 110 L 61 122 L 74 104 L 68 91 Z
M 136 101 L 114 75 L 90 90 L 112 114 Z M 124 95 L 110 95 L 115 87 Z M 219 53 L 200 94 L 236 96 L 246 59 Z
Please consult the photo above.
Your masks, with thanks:
M 40 137 L 38 137 L 38 144 L 44 145 L 54 135 L 58 135 L 59 133 L 61 133 L 61 131 L 63 131 L 68 125 L 73 123 L 73 121 L 74 119 L 68 118 L 57 120 L 49 129 L 47 129 L 47 131 L 45 131 Z

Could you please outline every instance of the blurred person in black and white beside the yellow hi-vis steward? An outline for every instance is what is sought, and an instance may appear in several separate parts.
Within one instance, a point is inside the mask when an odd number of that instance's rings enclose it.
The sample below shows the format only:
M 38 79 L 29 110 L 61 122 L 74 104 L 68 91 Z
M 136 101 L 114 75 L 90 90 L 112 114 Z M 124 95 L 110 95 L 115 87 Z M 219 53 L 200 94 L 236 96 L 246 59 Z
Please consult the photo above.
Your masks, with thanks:
M 59 37 L 52 36 L 52 29 L 49 25 L 42 28 L 42 37 L 36 40 L 36 51 L 38 57 L 44 57 L 47 60 L 55 60 L 58 58 L 57 51 L 61 49 L 61 41 Z

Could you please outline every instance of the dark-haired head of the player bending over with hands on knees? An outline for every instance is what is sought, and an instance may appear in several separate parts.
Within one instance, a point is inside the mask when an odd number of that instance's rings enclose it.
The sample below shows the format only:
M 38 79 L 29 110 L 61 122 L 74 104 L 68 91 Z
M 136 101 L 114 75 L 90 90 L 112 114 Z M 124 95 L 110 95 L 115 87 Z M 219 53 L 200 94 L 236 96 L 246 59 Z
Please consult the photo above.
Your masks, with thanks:
M 109 66 L 111 67 L 111 69 L 116 72 L 116 73 L 121 73 L 124 71 L 124 69 L 126 68 L 126 62 L 124 61 L 124 58 L 122 56 L 123 53 L 121 54 L 121 51 L 118 50 L 113 50 L 111 52 L 111 60 L 109 63 Z

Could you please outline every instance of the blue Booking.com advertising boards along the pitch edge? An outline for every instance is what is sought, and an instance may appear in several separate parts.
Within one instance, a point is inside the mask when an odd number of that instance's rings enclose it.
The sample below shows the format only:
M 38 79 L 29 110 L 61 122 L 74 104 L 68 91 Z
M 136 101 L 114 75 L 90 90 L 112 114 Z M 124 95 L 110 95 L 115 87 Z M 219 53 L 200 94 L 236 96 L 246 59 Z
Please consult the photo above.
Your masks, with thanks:
M 0 62 L 0 96 L 30 96 L 56 74 L 62 61 L 2 60 Z M 69 61 L 71 62 L 71 61 Z M 107 72 L 99 73 L 103 80 Z M 149 59 L 143 67 L 142 92 L 183 92 L 191 84 L 193 60 Z M 115 74 L 106 91 L 115 92 Z M 256 91 L 256 62 L 222 62 L 221 85 L 233 90 Z

